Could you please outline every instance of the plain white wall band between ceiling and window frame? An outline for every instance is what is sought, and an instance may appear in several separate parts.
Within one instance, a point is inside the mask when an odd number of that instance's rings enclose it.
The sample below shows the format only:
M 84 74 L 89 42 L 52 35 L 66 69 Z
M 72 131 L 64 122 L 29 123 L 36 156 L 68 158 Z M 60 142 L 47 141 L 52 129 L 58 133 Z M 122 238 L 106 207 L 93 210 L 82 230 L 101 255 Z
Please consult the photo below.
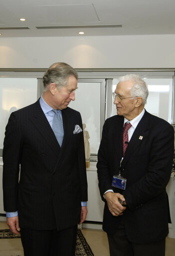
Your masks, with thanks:
M 0 68 L 175 67 L 175 35 L 1 37 Z

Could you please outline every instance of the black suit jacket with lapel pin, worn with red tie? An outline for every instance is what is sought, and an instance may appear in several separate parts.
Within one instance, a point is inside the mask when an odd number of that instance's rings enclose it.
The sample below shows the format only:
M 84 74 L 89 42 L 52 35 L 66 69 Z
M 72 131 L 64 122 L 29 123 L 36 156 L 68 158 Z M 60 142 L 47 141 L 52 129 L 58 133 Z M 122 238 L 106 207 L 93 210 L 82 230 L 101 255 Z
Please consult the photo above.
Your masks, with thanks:
M 123 215 L 113 216 L 105 203 L 103 229 L 113 233 L 123 218 L 128 240 L 149 243 L 168 233 L 169 208 L 165 187 L 168 183 L 174 146 L 173 127 L 165 120 L 145 111 L 128 143 L 121 164 L 127 178 L 126 189 L 111 186 L 119 171 L 124 117 L 108 118 L 103 126 L 98 150 L 97 173 L 102 200 L 107 189 L 124 195 L 128 207 Z M 142 136 L 142 139 L 141 137 Z

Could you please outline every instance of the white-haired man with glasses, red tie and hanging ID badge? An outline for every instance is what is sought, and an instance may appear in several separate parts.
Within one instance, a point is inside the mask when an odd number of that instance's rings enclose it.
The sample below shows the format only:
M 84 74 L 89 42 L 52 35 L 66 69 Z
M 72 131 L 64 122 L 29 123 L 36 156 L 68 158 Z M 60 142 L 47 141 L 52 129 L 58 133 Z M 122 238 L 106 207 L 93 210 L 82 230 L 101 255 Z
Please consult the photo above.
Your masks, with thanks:
M 120 77 L 114 92 L 117 115 L 103 126 L 97 173 L 111 256 L 165 253 L 170 218 L 165 187 L 174 130 L 144 109 L 147 95 L 138 75 Z

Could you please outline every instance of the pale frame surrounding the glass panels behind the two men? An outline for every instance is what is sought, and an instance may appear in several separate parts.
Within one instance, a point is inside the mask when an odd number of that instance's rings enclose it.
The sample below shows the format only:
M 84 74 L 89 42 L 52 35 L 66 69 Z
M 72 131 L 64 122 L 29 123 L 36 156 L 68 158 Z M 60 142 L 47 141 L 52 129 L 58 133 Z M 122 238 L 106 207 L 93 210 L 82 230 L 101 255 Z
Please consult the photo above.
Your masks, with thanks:
M 111 93 L 112 79 L 128 73 L 137 73 L 141 77 L 152 75 L 156 77 L 173 77 L 172 85 L 172 109 L 171 122 L 175 123 L 175 68 L 75 68 L 78 72 L 78 81 L 100 81 L 101 82 L 101 100 L 100 100 L 100 138 L 102 126 L 106 118 L 111 116 Z M 26 77 L 37 78 L 37 98 L 43 91 L 42 76 L 46 68 L 0 68 L 0 77 Z M 0 149 L 0 156 L 2 149 Z M 92 156 L 93 158 L 93 156 Z M 96 160 L 96 155 L 94 155 Z

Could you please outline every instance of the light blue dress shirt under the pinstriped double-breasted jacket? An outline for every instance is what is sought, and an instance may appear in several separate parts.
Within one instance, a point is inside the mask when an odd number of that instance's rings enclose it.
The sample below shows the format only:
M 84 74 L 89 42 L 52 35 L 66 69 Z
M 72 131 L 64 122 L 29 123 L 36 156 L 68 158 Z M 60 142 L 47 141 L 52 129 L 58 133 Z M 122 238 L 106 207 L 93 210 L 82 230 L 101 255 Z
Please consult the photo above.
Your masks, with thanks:
M 54 112 L 52 111 L 52 107 L 49 106 L 42 98 L 42 95 L 39 99 L 39 103 L 40 106 L 42 108 L 42 111 L 45 114 L 45 117 L 47 118 L 51 128 L 52 128 L 52 121 L 53 121 L 53 116 L 54 116 Z M 60 115 L 61 119 L 62 119 L 62 113 L 61 110 L 57 110 L 58 114 Z M 87 202 L 86 201 L 81 201 L 81 206 L 87 206 Z M 6 212 L 6 217 L 14 217 L 17 216 L 18 212 L 17 211 L 12 211 L 12 212 Z

